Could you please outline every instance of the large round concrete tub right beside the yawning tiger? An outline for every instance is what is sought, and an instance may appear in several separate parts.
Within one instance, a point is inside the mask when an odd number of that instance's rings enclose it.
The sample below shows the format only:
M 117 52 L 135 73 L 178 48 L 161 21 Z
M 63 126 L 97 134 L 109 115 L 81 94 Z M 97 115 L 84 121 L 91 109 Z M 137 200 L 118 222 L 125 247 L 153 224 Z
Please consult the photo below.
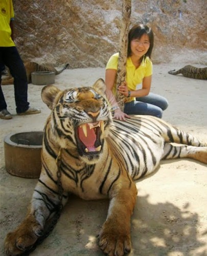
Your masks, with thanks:
M 6 171 L 24 178 L 39 178 L 43 132 L 9 134 L 4 138 Z

